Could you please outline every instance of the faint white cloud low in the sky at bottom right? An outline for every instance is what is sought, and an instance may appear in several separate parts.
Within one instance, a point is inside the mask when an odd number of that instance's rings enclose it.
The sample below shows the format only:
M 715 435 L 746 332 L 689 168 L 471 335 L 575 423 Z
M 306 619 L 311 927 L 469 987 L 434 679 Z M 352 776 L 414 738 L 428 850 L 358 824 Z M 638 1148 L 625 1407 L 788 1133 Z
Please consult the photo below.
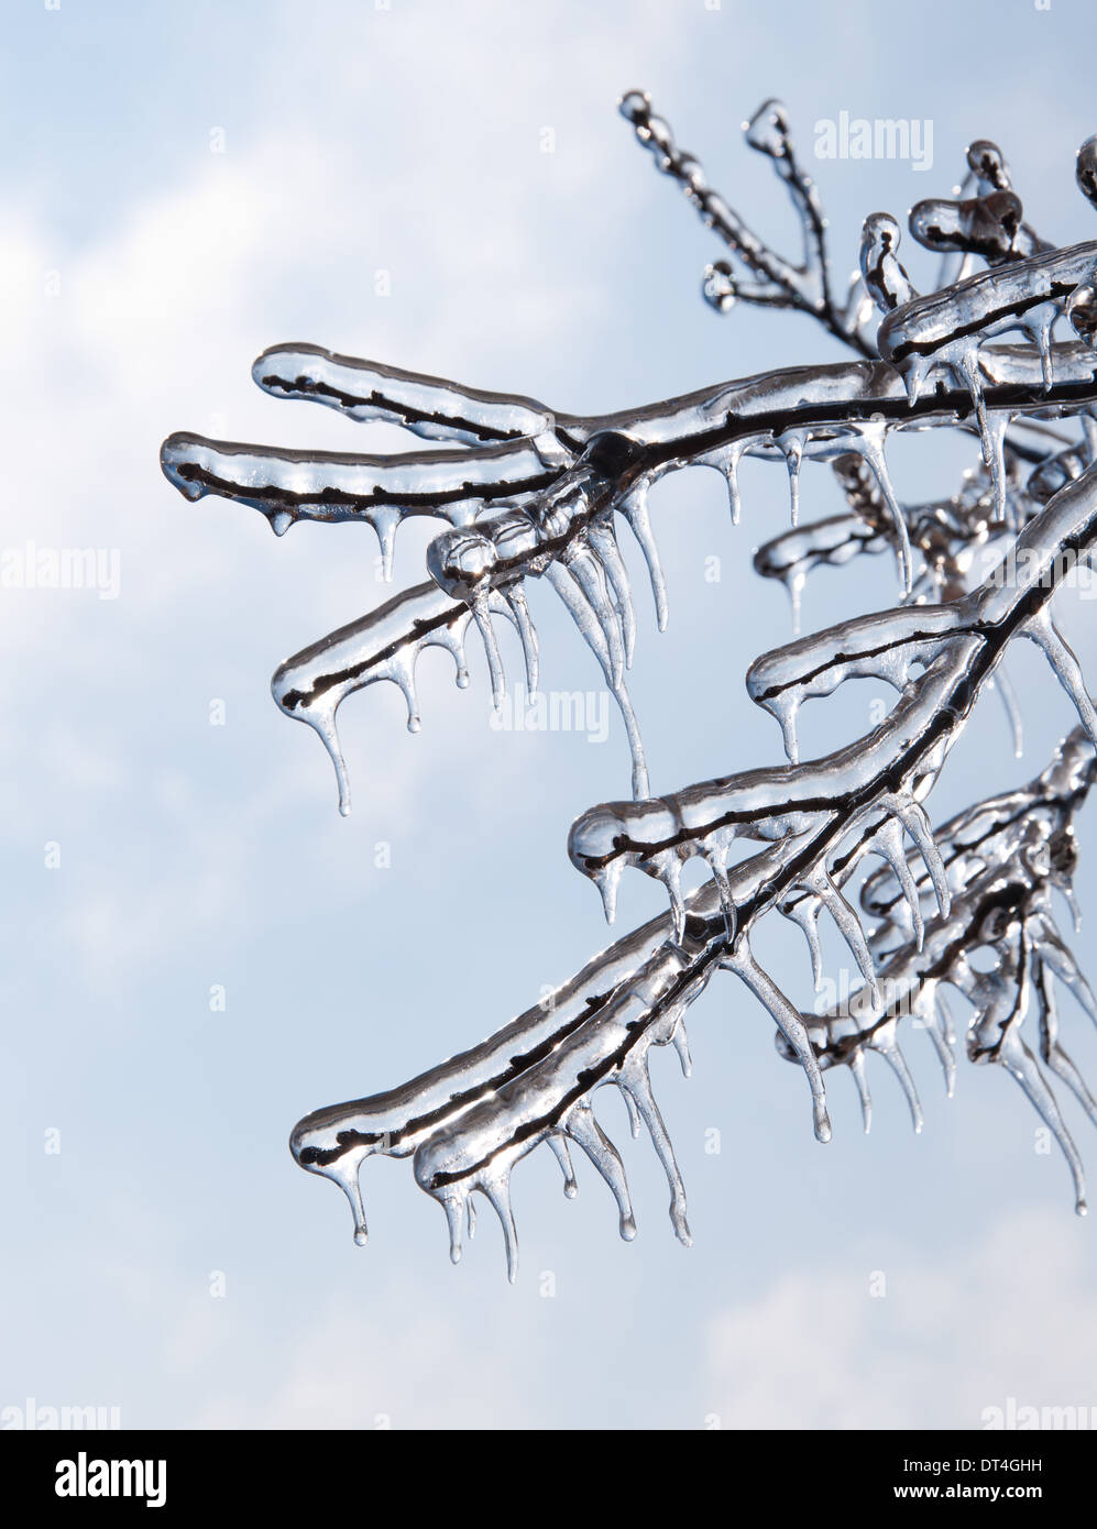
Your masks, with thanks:
M 967 1251 L 897 1246 L 883 1269 L 820 1269 L 805 1249 L 803 1269 L 710 1321 L 705 1413 L 724 1428 L 978 1428 L 1008 1398 L 1097 1408 L 1085 1231 L 1019 1211 Z

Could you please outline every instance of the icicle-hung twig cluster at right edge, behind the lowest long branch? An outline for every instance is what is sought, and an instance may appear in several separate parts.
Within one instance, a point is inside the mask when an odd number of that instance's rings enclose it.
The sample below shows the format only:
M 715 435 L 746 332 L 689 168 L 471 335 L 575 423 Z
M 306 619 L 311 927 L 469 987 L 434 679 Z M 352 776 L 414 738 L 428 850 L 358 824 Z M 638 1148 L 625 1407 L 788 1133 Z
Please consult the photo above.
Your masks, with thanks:
M 861 890 L 861 907 L 881 920 L 869 940 L 878 968 L 878 997 L 874 1000 L 866 986 L 840 1008 L 814 1020 L 805 1015 L 820 1067 L 848 1066 L 854 1073 L 866 1130 L 872 1115 L 864 1075 L 868 1052 L 892 1066 L 907 1095 L 915 1130 L 921 1130 L 921 1105 L 898 1032 L 903 1021 L 912 1020 L 929 1034 L 952 1093 L 956 1060 L 941 988 L 953 986 L 975 1011 L 967 1029 L 968 1060 L 1002 1066 L 1019 1083 L 1062 1147 L 1079 1214 L 1086 1208 L 1082 1159 L 1022 1031 L 1034 1012 L 1040 1061 L 1068 1086 L 1097 1125 L 1097 1102 L 1059 1043 L 1053 979 L 1074 994 L 1094 1021 L 1097 1001 L 1056 928 L 1051 899 L 1059 891 L 1077 924 L 1074 818 L 1094 774 L 1097 755 L 1089 735 L 1079 728 L 1028 786 L 979 803 L 944 824 L 935 838 L 952 907 L 949 917 L 930 917 L 923 936 L 916 936 L 913 917 L 921 917 L 920 908 L 932 890 L 926 875 L 918 876 L 903 862 L 877 872 Z M 979 951 L 991 954 L 990 969 L 973 963 Z M 791 1047 L 783 1049 L 789 1061 L 797 1060 Z

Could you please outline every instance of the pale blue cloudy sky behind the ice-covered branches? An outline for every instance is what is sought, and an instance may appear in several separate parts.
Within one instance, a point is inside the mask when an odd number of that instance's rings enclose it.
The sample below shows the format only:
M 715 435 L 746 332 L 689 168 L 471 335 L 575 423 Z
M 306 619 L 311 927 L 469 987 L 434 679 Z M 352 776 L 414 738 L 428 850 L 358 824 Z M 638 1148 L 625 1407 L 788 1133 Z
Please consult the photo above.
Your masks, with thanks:
M 356 1249 L 335 1190 L 285 1147 L 306 1110 L 479 1040 L 604 943 L 565 836 L 627 789 L 627 754 L 615 723 L 601 745 L 491 729 L 482 656 L 457 693 L 430 654 L 418 737 L 395 691 L 346 705 L 355 812 L 340 820 L 317 740 L 268 685 L 288 653 L 386 596 L 372 534 L 275 540 L 240 506 L 187 505 L 159 442 L 405 445 L 260 394 L 251 361 L 291 339 L 572 411 L 837 358 L 806 320 L 719 320 L 701 301 L 718 252 L 615 112 L 635 86 L 786 248 L 782 188 L 739 133 L 765 96 L 785 99 L 805 151 L 843 110 L 932 119 L 932 171 L 819 165 L 838 271 L 868 213 L 947 194 L 975 136 L 1007 150 L 1040 231 L 1091 235 L 1073 183 L 1094 130 L 1080 3 L 923 3 L 906 31 L 878 5 L 835 15 L 789 5 L 777 31 L 776 12 L 731 0 L 5 6 L 3 546 L 116 550 L 119 586 L 0 599 L 0 1407 L 118 1405 L 132 1427 L 699 1428 L 978 1425 L 1008 1396 L 1097 1405 L 1097 1252 L 1066 1170 L 1034 1151 L 1037 1122 L 1004 1076 L 961 1066 L 947 1102 L 924 1037 L 910 1044 L 924 1135 L 880 1075 L 866 1141 L 837 1078 L 820 1148 L 770 1021 L 733 979 L 713 985 L 693 1011 L 693 1078 L 655 1063 L 695 1246 L 675 1243 L 658 1162 L 604 1099 L 640 1235 L 618 1242 L 589 1171 L 565 1202 L 537 1153 L 514 1176 L 514 1289 L 488 1219 L 450 1268 L 442 1214 L 405 1162 L 367 1165 L 372 1237 Z M 930 278 L 918 255 L 910 268 Z M 894 477 L 907 498 L 949 492 L 968 457 L 910 437 Z M 737 531 L 715 474 L 653 495 L 670 628 L 656 635 L 638 578 L 632 690 L 655 790 L 779 757 L 742 674 L 788 636 L 782 592 L 750 570 L 786 523 L 782 477 L 744 468 Z M 805 469 L 802 503 L 834 508 L 825 471 Z M 401 532 L 398 579 L 421 578 L 425 540 Z M 805 622 L 890 590 L 883 560 L 823 573 Z M 595 690 L 549 592 L 532 598 L 545 683 Z M 1088 610 L 1063 622 L 1097 671 Z M 936 818 L 1028 778 L 1073 725 L 1042 661 L 1021 654 L 1013 674 L 1027 758 L 1010 757 L 990 697 Z M 848 737 L 863 708 L 828 702 L 805 734 Z M 1080 838 L 1092 908 L 1085 818 Z M 379 842 L 390 868 L 375 867 Z M 623 928 L 659 907 L 632 881 Z M 760 946 L 806 997 L 799 937 L 767 930 Z M 1092 1035 L 1065 1014 L 1092 1069 Z M 871 1295 L 880 1272 L 886 1295 Z

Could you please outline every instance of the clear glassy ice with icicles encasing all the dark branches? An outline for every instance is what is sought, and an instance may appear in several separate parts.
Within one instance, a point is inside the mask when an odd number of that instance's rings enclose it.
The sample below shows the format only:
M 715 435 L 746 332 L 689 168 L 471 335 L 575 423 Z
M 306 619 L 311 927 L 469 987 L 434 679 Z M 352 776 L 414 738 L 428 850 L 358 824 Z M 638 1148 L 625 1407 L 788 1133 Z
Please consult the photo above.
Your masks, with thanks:
M 298 520 L 372 526 L 386 578 L 402 520 L 441 521 L 424 583 L 294 654 L 274 676 L 277 705 L 324 743 L 343 812 L 350 807 L 337 731 L 343 700 L 390 680 L 418 732 L 419 653 L 447 648 L 464 688 L 474 628 L 499 706 L 508 682 L 500 621 L 514 628 L 525 682 L 535 691 L 540 645 L 526 593 L 529 579 L 543 578 L 617 700 L 630 755 L 630 797 L 577 818 L 571 859 L 598 887 L 609 919 L 626 867 L 661 881 L 669 898 L 666 914 L 592 957 L 479 1046 L 402 1087 L 304 1116 L 292 1131 L 292 1154 L 344 1191 L 360 1243 L 367 1235 L 360 1170 L 369 1156 L 412 1159 L 416 1183 L 445 1211 L 454 1261 L 476 1225 L 473 1196 L 482 1194 L 502 1223 L 514 1278 L 509 1177 L 542 1144 L 560 1164 L 568 1197 L 577 1190 L 571 1150 L 581 1148 L 609 1188 L 621 1235 L 635 1235 L 624 1165 L 594 1110 L 597 1090 L 612 1086 L 633 1135 L 646 1131 L 655 1147 L 672 1226 L 688 1243 L 685 1188 L 652 1093 L 649 1053 L 673 1046 L 688 1073 L 685 1014 L 722 971 L 741 979 L 774 1023 L 779 1052 L 803 1070 L 819 1141 L 831 1136 L 825 1084 L 838 1064 L 854 1076 L 868 1128 L 872 1052 L 897 1075 L 921 1128 L 901 1041 L 909 1020 L 926 1029 L 952 1092 L 956 1027 L 944 997 L 952 988 L 970 1009 L 968 1061 L 998 1063 L 1014 1078 L 1057 1139 L 1083 1211 L 1082 1162 L 1053 1081 L 1066 1084 L 1094 1124 L 1097 1104 L 1059 1043 L 1056 983 L 1094 1020 L 1097 1003 L 1056 927 L 1053 891 L 1074 913 L 1074 820 L 1097 771 L 1097 713 L 1054 625 L 1053 602 L 1097 546 L 1097 242 L 1059 248 L 1040 237 L 1025 222 L 1002 151 L 979 139 L 967 150 L 958 191 L 910 209 L 909 248 L 898 219 L 871 213 L 857 240 L 857 271 L 835 283 L 819 190 L 780 102 L 767 101 L 744 128 L 799 217 L 796 258 L 763 243 L 708 185 L 646 93 L 627 92 L 620 110 L 724 246 L 702 277 L 710 306 L 719 313 L 739 303 L 800 312 L 851 358 L 578 416 L 285 344 L 252 367 L 272 398 L 320 402 L 358 424 L 398 425 L 433 448 L 395 456 L 294 451 L 184 433 L 162 446 L 164 472 L 185 498 L 248 505 L 277 535 Z M 1079 150 L 1076 182 L 1097 206 L 1097 138 Z M 927 291 L 907 272 L 907 261 L 926 258 L 920 251 L 938 257 Z M 932 430 L 975 437 L 978 453 L 949 498 L 909 503 L 892 480 L 887 445 L 895 433 Z M 662 630 L 669 599 L 649 491 L 682 468 L 711 468 L 727 485 L 737 524 L 739 465 L 748 456 L 779 463 L 788 480 L 791 528 L 774 529 L 754 567 L 788 590 L 794 641 L 747 670 L 747 691 L 777 722 L 786 763 L 652 795 L 627 690 L 640 622 L 621 526 L 647 566 Z M 841 514 L 802 518 L 811 497 L 805 463 L 829 465 L 845 497 Z M 808 575 L 881 552 L 898 570 L 890 609 L 800 636 Z M 924 801 L 985 691 L 998 691 L 1021 754 L 1021 714 L 1004 667 L 1014 638 L 1045 654 L 1080 726 L 1028 786 L 933 829 Z M 802 758 L 802 706 L 869 677 L 894 690 L 892 709 L 863 737 Z M 871 858 L 878 864 L 869 870 Z M 708 879 L 685 894 L 690 859 L 704 864 Z M 820 920 L 832 922 L 863 976 L 846 1003 L 825 1014 L 793 1003 L 751 950 L 754 925 L 768 913 L 803 933 L 817 988 Z M 462 1012 L 465 1000 L 454 994 Z

